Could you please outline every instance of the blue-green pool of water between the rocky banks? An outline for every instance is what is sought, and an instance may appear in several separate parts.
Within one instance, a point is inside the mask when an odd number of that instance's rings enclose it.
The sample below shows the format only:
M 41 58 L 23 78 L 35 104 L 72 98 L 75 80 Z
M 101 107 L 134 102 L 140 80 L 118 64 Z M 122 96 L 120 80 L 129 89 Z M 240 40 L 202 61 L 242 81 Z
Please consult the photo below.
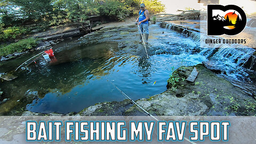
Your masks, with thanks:
M 46 63 L 43 58 L 38 59 L 37 64 L 30 65 L 30 71 L 22 70 L 17 73 L 17 79 L 1 83 L 0 86 L 13 96 L 13 101 L 21 99 L 27 90 L 38 91 L 41 94 L 39 99 L 28 104 L 28 110 L 66 114 L 98 102 L 122 101 L 124 97 L 109 81 L 137 100 L 164 92 L 172 67 L 192 66 L 206 60 L 202 55 L 188 51 L 196 46 L 194 41 L 156 25 L 150 26 L 154 39 L 151 39 L 149 49 L 181 52 L 175 55 L 150 55 L 149 59 L 118 53 L 121 51 L 117 47 L 118 42 L 135 41 L 138 37 L 136 29 L 135 26 L 122 29 L 129 31 L 127 35 L 118 34 L 120 29 L 94 33 L 79 41 L 55 47 L 54 62 Z M 102 38 L 97 39 L 99 35 Z M 140 44 L 137 45 L 139 47 Z M 14 104 L 13 107 L 17 105 Z M 2 107 L 0 105 L 0 109 Z M 0 113 L 4 113 L 4 110 Z

